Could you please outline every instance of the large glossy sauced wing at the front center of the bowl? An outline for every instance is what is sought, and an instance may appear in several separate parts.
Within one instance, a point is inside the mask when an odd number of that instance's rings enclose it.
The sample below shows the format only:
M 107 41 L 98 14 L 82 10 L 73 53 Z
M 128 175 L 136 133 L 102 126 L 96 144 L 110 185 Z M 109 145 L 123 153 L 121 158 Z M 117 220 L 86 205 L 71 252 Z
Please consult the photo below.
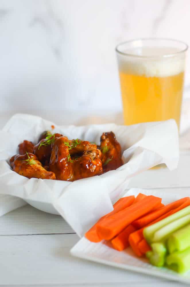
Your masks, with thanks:
M 72 147 L 68 142 L 67 137 L 59 137 L 55 139 L 55 143 L 52 148 L 49 168 L 56 174 L 56 178 L 65 181 L 74 181 L 76 179 L 82 179 L 85 177 L 92 177 L 94 175 L 100 175 L 103 172 L 102 162 L 100 159 L 100 150 L 93 149 L 92 147 L 88 151 L 86 149 L 87 142 L 78 141 L 75 154 L 73 154 Z M 90 142 L 88 142 L 90 144 Z M 82 153 L 83 150 L 86 151 Z M 78 156 L 78 154 L 82 155 Z

